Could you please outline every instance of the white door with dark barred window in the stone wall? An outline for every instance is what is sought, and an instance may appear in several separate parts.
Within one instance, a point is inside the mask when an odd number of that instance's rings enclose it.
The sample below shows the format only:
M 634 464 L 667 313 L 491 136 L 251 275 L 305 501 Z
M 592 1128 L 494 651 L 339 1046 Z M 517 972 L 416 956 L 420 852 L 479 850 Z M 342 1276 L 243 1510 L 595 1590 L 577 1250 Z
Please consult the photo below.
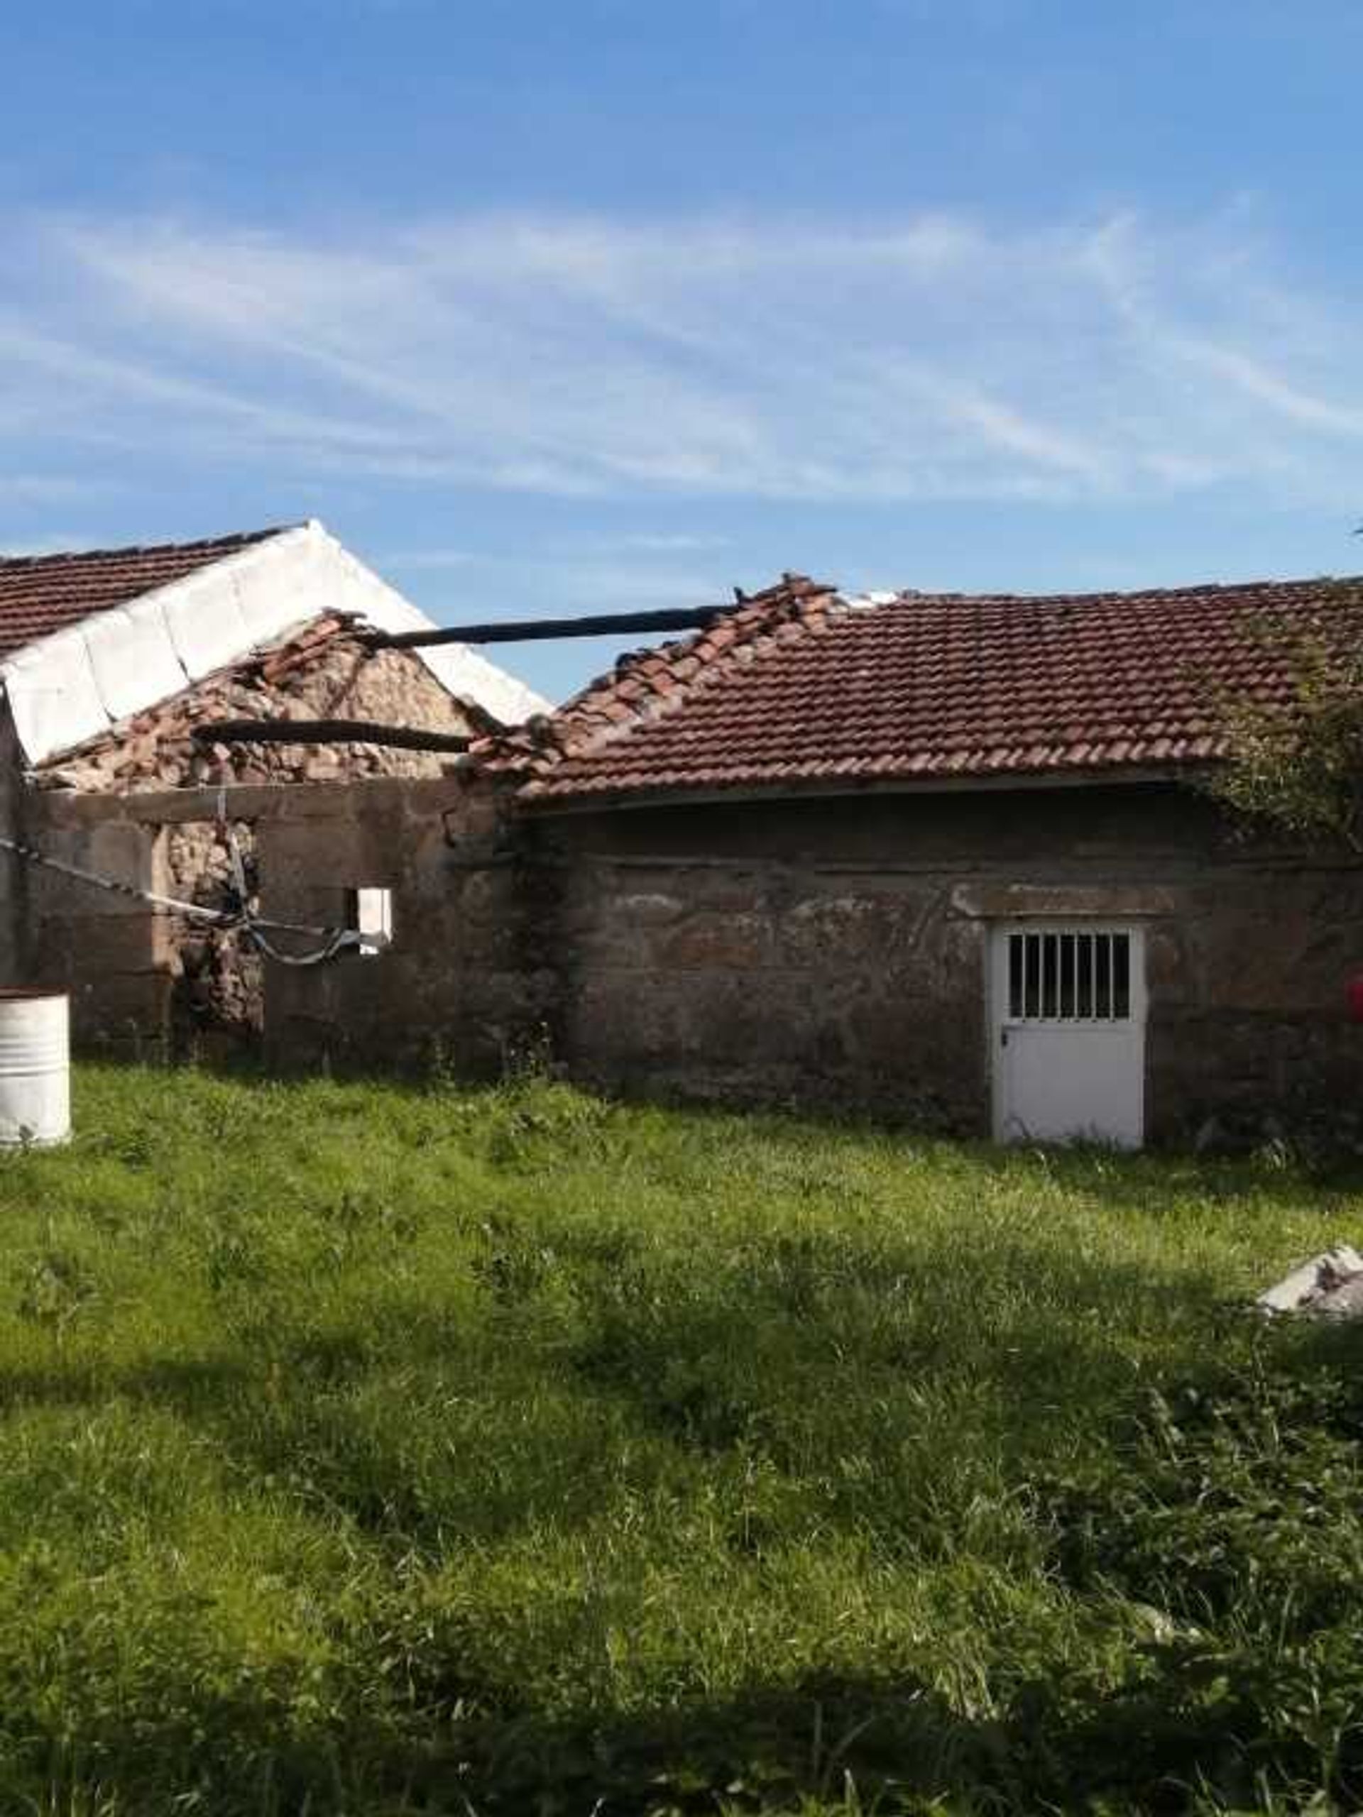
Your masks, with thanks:
M 994 928 L 994 1139 L 1145 1137 L 1145 936 L 1139 927 Z

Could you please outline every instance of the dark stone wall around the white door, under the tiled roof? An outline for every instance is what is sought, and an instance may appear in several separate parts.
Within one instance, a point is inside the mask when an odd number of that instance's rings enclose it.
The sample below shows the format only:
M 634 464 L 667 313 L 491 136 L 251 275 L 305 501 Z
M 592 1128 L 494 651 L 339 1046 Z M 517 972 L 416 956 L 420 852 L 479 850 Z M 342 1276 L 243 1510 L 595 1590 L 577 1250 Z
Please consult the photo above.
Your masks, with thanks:
M 987 1134 L 994 919 L 1147 927 L 1147 1127 L 1363 1101 L 1363 869 L 1236 838 L 1172 787 L 787 799 L 542 818 L 554 1030 L 578 1076 L 851 1105 Z

